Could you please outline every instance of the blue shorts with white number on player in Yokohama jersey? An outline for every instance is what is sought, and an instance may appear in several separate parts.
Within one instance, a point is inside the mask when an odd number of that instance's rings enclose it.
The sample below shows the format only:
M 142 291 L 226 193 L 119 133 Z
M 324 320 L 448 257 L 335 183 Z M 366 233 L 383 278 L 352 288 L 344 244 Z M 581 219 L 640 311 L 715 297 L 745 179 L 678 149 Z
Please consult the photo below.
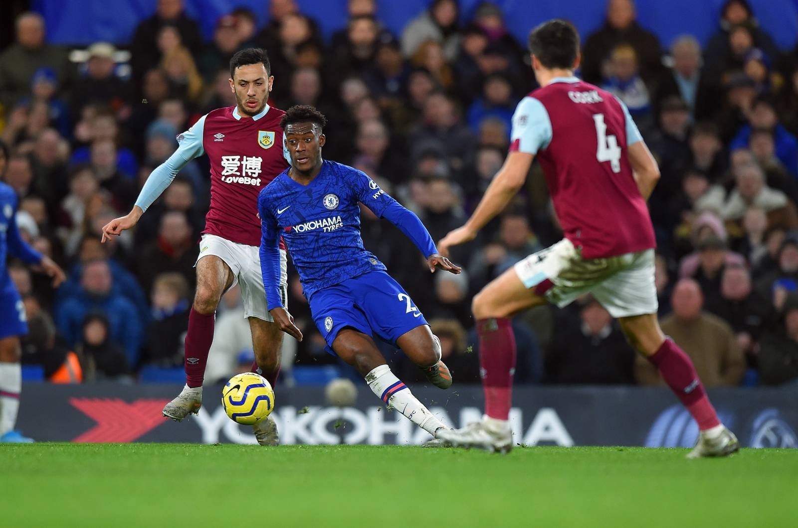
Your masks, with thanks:
M 333 355 L 333 341 L 346 326 L 396 345 L 402 334 L 428 324 L 407 292 L 385 271 L 370 271 L 315 291 L 310 296 L 310 313 L 327 352 Z

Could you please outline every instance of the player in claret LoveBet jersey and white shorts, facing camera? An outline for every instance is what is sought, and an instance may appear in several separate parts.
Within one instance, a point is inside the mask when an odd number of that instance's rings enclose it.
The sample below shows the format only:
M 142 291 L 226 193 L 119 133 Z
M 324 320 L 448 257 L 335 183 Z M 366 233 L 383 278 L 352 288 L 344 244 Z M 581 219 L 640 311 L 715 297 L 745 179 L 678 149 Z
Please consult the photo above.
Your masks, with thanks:
M 199 242 L 197 286 L 185 341 L 186 386 L 166 404 L 164 416 L 183 420 L 199 412 L 208 350 L 213 341 L 216 306 L 224 292 L 241 287 L 244 317 L 250 322 L 255 364 L 252 369 L 275 385 L 280 368 L 282 332 L 272 321 L 263 293 L 258 246 L 258 193 L 288 167 L 280 120 L 285 112 L 267 103 L 274 77 L 263 49 L 243 49 L 230 61 L 235 106 L 219 108 L 177 136 L 180 147 L 156 167 L 127 216 L 103 228 L 103 240 L 135 226 L 144 211 L 172 183 L 189 160 L 207 153 L 211 161 L 211 207 Z M 279 290 L 286 299 L 286 252 L 280 242 Z M 275 420 L 253 426 L 261 445 L 276 445 Z

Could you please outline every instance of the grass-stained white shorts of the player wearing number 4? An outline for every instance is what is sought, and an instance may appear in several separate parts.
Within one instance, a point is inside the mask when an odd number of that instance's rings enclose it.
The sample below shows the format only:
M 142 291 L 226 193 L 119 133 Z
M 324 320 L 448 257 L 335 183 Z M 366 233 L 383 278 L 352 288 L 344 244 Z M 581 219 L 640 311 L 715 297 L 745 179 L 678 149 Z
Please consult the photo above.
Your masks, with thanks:
M 560 308 L 588 293 L 615 318 L 657 313 L 659 307 L 654 286 L 654 250 L 586 260 L 564 238 L 529 255 L 514 268 L 527 288 L 549 280 L 551 288 L 544 295 Z

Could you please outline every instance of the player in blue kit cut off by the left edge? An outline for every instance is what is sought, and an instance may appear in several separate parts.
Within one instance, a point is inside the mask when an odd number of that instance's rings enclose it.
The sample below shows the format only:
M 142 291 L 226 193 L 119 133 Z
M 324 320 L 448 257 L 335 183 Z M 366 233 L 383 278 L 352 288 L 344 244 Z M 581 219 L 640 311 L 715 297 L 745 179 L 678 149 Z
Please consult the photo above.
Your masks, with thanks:
M 64 282 L 65 275 L 49 257 L 30 247 L 17 229 L 18 198 L 8 184 L 2 182 L 6 170 L 8 148 L 0 141 L 0 443 L 27 443 L 32 439 L 14 429 L 22 392 L 22 349 L 19 336 L 28 333 L 25 305 L 6 269 L 6 256 L 39 266 L 53 278 L 53 287 Z

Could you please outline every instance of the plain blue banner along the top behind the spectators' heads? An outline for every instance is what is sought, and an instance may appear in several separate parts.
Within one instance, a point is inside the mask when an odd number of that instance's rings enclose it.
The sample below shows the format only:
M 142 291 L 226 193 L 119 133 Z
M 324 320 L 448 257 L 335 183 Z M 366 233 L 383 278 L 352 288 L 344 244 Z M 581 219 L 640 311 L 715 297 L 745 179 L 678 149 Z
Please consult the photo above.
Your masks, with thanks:
M 255 11 L 260 26 L 267 22 L 268 0 L 192 0 L 186 3 L 189 15 L 196 18 L 206 37 L 216 20 L 237 6 Z M 421 13 L 429 0 L 379 0 L 378 16 L 394 34 L 411 18 Z M 460 0 L 463 19 L 468 20 L 480 0 Z M 505 13 L 512 33 L 522 43 L 531 27 L 548 18 L 568 18 L 583 37 L 604 21 L 606 2 L 602 0 L 496 0 Z M 674 37 L 692 33 L 705 44 L 717 30 L 718 13 L 725 0 L 638 0 L 638 21 L 657 34 L 663 46 Z M 798 36 L 798 0 L 750 0 L 754 13 L 783 49 L 791 49 Z M 325 37 L 346 25 L 346 0 L 298 0 L 302 13 L 315 18 Z M 114 0 L 109 4 L 95 0 L 35 0 L 35 9 L 44 14 L 49 40 L 57 44 L 86 45 L 112 41 L 124 45 L 136 24 L 155 12 L 156 0 Z M 689 16 L 685 17 L 685 14 Z

